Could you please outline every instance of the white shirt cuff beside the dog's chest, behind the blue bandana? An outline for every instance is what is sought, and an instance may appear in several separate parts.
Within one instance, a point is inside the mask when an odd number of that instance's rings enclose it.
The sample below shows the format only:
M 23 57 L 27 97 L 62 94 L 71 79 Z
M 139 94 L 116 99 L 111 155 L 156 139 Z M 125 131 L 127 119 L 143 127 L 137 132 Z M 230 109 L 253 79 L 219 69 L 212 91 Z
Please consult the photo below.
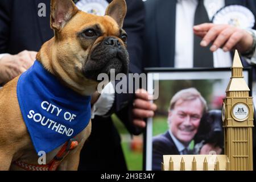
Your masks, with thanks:
M 115 100 L 115 90 L 112 82 L 109 82 L 101 92 L 101 96 L 92 107 L 93 119 L 95 115 L 105 115 L 112 107 Z

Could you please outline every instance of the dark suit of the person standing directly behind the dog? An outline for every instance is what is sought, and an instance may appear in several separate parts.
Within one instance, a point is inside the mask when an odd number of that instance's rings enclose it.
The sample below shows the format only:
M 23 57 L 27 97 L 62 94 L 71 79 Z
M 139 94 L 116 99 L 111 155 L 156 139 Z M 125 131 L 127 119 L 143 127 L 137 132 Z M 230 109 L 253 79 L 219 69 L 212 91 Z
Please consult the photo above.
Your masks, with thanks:
M 46 17 L 38 16 L 38 5 L 42 2 L 47 7 Z M 144 27 L 143 2 L 129 0 L 127 1 L 127 10 L 123 28 L 129 36 L 127 44 L 130 56 L 130 72 L 141 73 Z M 39 51 L 42 44 L 53 37 L 53 31 L 49 26 L 49 14 L 49 0 L 1 0 L 0 53 L 16 54 L 24 49 Z M 127 117 L 127 110 L 131 106 L 129 101 L 132 98 L 133 94 L 116 94 L 111 111 L 121 115 L 127 129 L 134 133 L 136 128 Z M 81 153 L 80 169 L 127 169 L 120 137 L 112 119 L 110 117 L 96 117 L 92 122 L 92 135 L 85 144 L 86 150 Z

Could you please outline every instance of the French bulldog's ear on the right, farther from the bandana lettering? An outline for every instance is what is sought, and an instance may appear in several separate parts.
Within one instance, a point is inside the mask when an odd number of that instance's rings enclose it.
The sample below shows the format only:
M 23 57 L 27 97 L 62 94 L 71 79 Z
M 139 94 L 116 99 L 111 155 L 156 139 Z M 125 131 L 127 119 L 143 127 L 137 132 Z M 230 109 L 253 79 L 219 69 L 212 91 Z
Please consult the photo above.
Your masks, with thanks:
M 127 12 L 125 0 L 113 0 L 106 9 L 105 15 L 111 16 L 119 27 L 123 27 L 123 20 Z

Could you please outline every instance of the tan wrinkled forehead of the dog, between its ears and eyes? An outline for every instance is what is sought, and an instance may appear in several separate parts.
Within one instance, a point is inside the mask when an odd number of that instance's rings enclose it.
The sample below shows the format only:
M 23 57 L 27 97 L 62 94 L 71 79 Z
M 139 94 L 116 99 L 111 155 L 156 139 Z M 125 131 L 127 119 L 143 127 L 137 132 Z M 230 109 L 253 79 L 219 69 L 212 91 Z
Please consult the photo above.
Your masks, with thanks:
M 63 28 L 63 34 L 70 32 L 81 32 L 86 28 L 95 28 L 105 36 L 119 35 L 122 30 L 110 16 L 97 16 L 82 11 L 77 13 Z M 72 30 L 72 31 L 71 31 Z

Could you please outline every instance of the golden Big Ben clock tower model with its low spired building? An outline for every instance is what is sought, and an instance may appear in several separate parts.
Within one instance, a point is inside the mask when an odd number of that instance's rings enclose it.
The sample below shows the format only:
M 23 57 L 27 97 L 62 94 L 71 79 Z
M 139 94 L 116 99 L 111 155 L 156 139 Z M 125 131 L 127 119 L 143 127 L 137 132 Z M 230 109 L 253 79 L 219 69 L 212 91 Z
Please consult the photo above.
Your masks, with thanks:
M 253 97 L 249 96 L 249 91 L 236 51 L 222 107 L 225 155 L 163 155 L 162 170 L 253 170 Z

